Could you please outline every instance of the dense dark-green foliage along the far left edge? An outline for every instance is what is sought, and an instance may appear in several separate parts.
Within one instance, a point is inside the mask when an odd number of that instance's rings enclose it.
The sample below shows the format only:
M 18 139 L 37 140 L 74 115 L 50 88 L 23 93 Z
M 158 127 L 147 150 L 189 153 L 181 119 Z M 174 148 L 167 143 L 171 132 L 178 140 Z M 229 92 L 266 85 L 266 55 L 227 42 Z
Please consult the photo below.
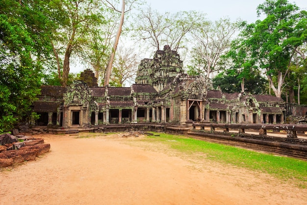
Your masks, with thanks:
M 31 116 L 50 57 L 47 0 L 0 0 L 0 132 Z

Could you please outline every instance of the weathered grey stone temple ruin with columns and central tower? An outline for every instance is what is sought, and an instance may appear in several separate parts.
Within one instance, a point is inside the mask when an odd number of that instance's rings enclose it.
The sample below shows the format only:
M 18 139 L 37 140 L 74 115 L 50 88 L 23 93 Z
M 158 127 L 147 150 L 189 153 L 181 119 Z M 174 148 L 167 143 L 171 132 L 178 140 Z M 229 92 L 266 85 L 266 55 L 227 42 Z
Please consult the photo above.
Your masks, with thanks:
M 176 51 L 165 46 L 143 59 L 129 88 L 98 87 L 91 70 L 67 87 L 43 86 L 33 110 L 36 125 L 90 128 L 109 124 L 283 123 L 306 117 L 307 107 L 271 95 L 223 93 L 208 79 L 189 76 Z

